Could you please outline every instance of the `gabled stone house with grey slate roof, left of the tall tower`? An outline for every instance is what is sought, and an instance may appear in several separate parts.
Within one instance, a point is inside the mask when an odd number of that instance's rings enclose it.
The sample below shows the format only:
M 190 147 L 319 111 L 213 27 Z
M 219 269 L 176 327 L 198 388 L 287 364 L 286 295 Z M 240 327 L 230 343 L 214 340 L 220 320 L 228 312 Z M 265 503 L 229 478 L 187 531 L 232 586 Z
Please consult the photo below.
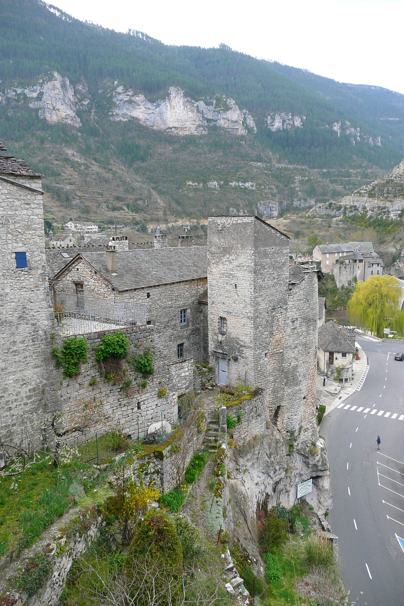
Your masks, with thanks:
M 110 301 L 145 303 L 156 347 L 165 360 L 204 362 L 204 313 L 198 299 L 207 288 L 206 247 L 80 252 L 51 280 L 58 292 Z

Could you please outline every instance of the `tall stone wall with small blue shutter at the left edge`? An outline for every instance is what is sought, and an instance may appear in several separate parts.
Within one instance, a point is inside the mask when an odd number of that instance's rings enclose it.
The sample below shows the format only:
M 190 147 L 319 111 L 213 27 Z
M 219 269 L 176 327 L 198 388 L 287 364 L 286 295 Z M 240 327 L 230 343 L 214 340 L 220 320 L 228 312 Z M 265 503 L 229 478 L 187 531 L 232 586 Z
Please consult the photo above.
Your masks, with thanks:
M 41 179 L 14 181 L 41 189 Z M 0 419 L 3 431 L 55 400 L 51 335 L 58 332 L 48 292 L 42 195 L 0 181 Z M 16 252 L 27 253 L 17 269 Z M 15 432 L 13 432 L 15 433 Z

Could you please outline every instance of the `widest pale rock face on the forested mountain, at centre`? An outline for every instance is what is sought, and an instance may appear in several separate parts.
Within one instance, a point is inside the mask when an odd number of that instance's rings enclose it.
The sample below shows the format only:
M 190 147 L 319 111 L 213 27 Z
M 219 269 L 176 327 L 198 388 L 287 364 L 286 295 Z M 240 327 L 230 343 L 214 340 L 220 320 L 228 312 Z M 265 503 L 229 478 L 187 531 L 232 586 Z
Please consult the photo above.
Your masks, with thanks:
M 151 103 L 144 95 L 119 86 L 113 93 L 111 119 L 127 121 L 136 118 L 154 130 L 172 130 L 177 135 L 200 135 L 210 125 L 224 128 L 234 135 L 246 135 L 256 125 L 247 110 L 241 111 L 233 99 L 216 97 L 193 101 L 180 88 L 170 87 L 168 96 Z

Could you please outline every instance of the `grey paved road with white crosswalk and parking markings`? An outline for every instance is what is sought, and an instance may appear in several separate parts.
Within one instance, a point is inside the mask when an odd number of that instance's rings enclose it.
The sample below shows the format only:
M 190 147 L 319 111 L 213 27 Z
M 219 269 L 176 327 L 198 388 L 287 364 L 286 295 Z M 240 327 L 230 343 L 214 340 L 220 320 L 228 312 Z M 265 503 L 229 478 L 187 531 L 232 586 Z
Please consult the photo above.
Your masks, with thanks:
M 404 344 L 358 341 L 369 358 L 366 380 L 320 430 L 333 486 L 329 523 L 339 537 L 349 599 L 403 606 L 404 547 L 397 536 L 404 538 L 404 362 L 391 352 L 404 351 Z

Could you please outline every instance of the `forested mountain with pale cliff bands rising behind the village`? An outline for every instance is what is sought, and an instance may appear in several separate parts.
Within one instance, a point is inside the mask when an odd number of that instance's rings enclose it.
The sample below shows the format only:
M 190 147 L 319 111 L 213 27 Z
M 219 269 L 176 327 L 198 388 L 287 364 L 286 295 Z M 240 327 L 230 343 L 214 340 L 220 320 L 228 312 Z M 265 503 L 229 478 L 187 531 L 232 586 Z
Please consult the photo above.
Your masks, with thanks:
M 187 105 L 192 135 L 142 121 L 162 112 L 170 87 L 184 91 L 170 93 L 169 110 Z M 67 99 L 63 119 L 46 98 L 56 89 Z M 282 210 L 338 199 L 397 164 L 404 96 L 225 45 L 116 33 L 38 0 L 0 0 L 0 140 L 44 173 L 48 210 L 63 216 L 197 217 L 268 201 Z

